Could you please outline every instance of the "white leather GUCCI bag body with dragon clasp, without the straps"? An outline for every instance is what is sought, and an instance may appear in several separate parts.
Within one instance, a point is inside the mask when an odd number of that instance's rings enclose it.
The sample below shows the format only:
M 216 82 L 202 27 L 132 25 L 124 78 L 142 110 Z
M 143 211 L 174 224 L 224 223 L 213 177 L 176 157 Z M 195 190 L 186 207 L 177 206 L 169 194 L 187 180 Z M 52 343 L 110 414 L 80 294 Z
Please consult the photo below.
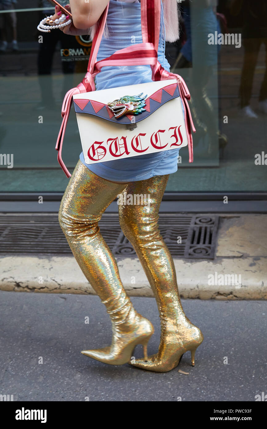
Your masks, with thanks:
M 73 96 L 87 164 L 188 144 L 176 79 Z

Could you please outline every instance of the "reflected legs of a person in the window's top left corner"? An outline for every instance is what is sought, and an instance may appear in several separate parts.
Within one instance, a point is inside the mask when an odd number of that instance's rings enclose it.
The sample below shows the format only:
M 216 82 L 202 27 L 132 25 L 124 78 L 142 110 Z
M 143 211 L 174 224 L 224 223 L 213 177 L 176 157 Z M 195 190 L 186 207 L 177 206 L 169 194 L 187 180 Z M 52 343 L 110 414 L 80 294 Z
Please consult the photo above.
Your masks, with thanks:
M 17 17 L 13 12 L 14 4 L 17 0 L 0 0 L 0 30 L 1 30 L 1 45 L 0 51 L 6 51 L 7 48 L 7 31 L 8 27 L 12 28 L 12 49 L 18 51 L 17 42 Z M 1 10 L 11 10 L 9 13 L 1 13 Z

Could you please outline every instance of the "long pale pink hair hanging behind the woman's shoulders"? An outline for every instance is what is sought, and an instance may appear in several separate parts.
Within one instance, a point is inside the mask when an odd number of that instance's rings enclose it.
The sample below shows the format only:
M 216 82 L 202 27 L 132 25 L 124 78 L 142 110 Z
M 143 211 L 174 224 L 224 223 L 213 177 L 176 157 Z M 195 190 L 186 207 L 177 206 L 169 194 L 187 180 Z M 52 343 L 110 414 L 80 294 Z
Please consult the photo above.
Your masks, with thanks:
M 180 9 L 179 9 L 177 0 L 162 0 L 162 5 L 163 5 L 166 41 L 175 42 L 177 39 L 179 39 L 179 36 L 180 36 L 180 32 L 179 32 Z M 89 28 L 88 34 L 90 35 L 91 39 L 93 39 L 93 36 L 96 33 L 96 28 L 98 24 L 99 24 L 99 21 Z M 103 37 L 105 39 L 108 39 L 107 24 L 105 25 L 105 28 L 104 28 Z

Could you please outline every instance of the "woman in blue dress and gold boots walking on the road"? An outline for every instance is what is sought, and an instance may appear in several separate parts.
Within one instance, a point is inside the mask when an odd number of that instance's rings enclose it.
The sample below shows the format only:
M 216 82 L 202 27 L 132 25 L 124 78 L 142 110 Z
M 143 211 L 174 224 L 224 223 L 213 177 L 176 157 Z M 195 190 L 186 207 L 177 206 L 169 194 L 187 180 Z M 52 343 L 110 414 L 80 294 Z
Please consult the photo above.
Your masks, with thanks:
M 107 6 L 106 0 L 70 0 L 73 22 L 64 27 L 68 34 L 92 33 Z M 164 6 L 164 8 L 163 8 Z M 60 16 L 56 8 L 54 18 Z M 165 13 L 164 13 L 165 12 Z M 164 22 L 165 15 L 165 22 Z M 177 1 L 161 4 L 158 59 L 169 71 L 165 59 L 166 39 L 178 37 Z M 131 43 L 141 43 L 141 4 L 136 1 L 109 1 L 107 28 L 97 59 Z M 152 82 L 150 66 L 103 67 L 96 76 L 96 89 Z M 84 275 L 102 302 L 112 321 L 112 344 L 82 353 L 111 365 L 129 362 L 136 344 L 144 346 L 144 360 L 132 365 L 156 372 L 176 367 L 187 350 L 192 353 L 203 340 L 200 329 L 185 316 L 180 302 L 174 263 L 163 242 L 157 224 L 159 205 L 169 174 L 177 171 L 178 151 L 162 151 L 118 161 L 87 165 L 83 154 L 75 166 L 60 205 L 60 226 Z M 117 263 L 99 232 L 98 221 L 108 205 L 120 193 L 150 194 L 148 205 L 120 205 L 123 233 L 132 243 L 156 297 L 161 319 L 159 351 L 147 356 L 147 343 L 154 332 L 149 320 L 138 314 L 126 295 Z

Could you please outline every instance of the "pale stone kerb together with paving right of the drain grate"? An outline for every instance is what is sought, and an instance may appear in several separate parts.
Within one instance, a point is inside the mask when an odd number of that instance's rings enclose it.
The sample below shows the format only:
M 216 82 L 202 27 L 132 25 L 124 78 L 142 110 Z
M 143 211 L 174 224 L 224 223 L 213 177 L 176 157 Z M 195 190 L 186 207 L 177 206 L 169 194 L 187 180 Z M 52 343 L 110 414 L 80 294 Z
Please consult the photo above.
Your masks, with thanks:
M 174 258 L 180 295 L 200 299 L 267 299 L 267 215 L 220 215 L 216 258 Z M 137 258 L 118 258 L 130 296 L 153 296 Z M 94 293 L 71 256 L 0 257 L 0 289 Z

